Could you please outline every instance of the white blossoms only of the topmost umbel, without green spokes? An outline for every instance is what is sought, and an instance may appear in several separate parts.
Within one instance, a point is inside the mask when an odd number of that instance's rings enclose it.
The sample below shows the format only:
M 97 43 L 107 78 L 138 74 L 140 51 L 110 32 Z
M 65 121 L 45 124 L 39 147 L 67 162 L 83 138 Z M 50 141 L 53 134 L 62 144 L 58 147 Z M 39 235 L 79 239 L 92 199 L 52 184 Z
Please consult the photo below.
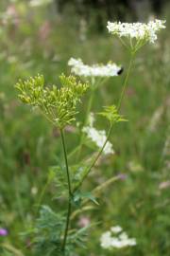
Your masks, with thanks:
M 157 40 L 157 32 L 161 28 L 165 28 L 165 21 L 155 20 L 144 23 L 121 23 L 121 22 L 108 22 L 108 30 L 111 34 L 118 35 L 119 37 L 135 38 L 144 40 L 145 42 L 155 43 Z

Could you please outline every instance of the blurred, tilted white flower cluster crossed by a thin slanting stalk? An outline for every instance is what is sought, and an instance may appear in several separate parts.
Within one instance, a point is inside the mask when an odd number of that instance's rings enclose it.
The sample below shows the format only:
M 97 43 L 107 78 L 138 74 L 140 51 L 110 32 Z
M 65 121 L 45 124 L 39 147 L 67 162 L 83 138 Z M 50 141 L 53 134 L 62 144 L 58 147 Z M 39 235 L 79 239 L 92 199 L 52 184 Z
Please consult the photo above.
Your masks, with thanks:
M 89 125 L 83 127 L 82 131 L 87 135 L 87 137 L 89 137 L 95 143 L 95 145 L 98 148 L 101 149 L 107 139 L 106 132 L 104 130 L 96 130 L 93 127 L 93 121 L 93 113 L 91 113 L 88 121 Z M 106 146 L 104 147 L 103 153 L 105 155 L 114 154 L 112 144 L 110 143 L 110 141 L 108 141 Z

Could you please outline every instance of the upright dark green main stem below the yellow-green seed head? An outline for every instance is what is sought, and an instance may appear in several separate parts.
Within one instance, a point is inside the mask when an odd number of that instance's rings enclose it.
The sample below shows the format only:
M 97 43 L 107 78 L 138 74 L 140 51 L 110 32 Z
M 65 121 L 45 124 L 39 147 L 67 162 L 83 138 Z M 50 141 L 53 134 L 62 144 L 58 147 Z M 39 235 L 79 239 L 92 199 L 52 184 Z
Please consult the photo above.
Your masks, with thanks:
M 67 151 L 66 151 L 66 146 L 65 146 L 65 138 L 64 138 L 63 130 L 60 130 L 60 136 L 61 136 L 61 141 L 62 141 L 63 154 L 64 154 L 65 166 L 66 166 L 66 174 L 67 174 L 67 182 L 68 182 L 68 210 L 67 210 L 67 219 L 66 219 L 64 237 L 63 237 L 63 243 L 62 243 L 62 247 L 61 247 L 62 251 L 64 252 L 66 242 L 67 242 L 69 224 L 70 224 L 70 215 L 71 215 L 71 211 L 72 211 L 72 205 L 71 205 L 72 188 L 71 188 L 71 180 L 70 180 L 68 160 L 67 160 Z

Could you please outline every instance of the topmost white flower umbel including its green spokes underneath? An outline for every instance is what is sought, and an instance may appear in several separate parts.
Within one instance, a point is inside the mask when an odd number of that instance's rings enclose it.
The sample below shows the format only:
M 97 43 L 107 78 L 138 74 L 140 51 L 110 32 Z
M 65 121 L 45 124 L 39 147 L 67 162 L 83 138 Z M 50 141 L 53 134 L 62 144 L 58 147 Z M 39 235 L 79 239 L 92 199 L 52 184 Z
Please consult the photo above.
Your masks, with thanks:
M 117 35 L 123 45 L 129 46 L 131 50 L 137 51 L 146 43 L 155 43 L 158 32 L 165 28 L 165 21 L 155 20 L 145 23 L 121 23 L 121 22 L 108 22 L 108 30 L 111 34 Z M 127 43 L 123 38 L 127 38 Z

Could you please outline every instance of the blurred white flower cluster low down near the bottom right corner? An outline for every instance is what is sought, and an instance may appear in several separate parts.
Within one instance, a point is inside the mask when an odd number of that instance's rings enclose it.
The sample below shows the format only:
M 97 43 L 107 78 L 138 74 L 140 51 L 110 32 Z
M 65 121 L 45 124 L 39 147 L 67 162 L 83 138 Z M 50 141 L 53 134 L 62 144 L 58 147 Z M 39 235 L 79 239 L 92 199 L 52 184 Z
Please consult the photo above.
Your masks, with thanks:
M 127 233 L 119 226 L 112 227 L 109 231 L 103 233 L 100 243 L 101 247 L 107 249 L 136 246 L 136 240 L 128 238 Z

